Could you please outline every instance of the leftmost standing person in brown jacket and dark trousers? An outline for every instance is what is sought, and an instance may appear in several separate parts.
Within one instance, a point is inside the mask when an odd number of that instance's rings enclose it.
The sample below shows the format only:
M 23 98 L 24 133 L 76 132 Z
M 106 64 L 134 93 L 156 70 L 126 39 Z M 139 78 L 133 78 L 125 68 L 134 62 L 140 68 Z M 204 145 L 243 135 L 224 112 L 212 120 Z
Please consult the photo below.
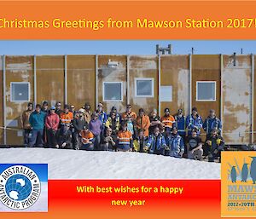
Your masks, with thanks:
M 22 112 L 21 115 L 21 128 L 24 130 L 24 145 L 27 146 L 29 143 L 29 135 L 31 133 L 32 127 L 31 124 L 29 123 L 29 117 L 33 111 L 33 105 L 32 102 L 27 104 L 27 109 L 26 111 Z

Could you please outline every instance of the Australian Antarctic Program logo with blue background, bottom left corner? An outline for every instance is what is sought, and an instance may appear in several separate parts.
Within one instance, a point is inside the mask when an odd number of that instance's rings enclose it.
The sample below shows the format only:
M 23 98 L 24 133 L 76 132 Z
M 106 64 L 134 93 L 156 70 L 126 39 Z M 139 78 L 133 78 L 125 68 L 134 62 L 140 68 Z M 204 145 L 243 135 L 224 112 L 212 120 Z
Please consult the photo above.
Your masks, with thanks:
M 26 210 L 37 203 L 42 187 L 35 170 L 44 170 L 40 165 L 45 164 L 0 164 L 0 204 L 7 207 L 0 210 Z

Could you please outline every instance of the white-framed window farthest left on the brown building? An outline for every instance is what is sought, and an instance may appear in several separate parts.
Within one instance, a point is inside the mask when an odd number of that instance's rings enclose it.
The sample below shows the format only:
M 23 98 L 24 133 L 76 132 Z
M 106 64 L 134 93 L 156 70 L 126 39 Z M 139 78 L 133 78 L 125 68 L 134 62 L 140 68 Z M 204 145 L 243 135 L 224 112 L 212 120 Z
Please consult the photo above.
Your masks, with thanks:
M 10 101 L 24 102 L 30 101 L 30 83 L 29 82 L 11 82 Z

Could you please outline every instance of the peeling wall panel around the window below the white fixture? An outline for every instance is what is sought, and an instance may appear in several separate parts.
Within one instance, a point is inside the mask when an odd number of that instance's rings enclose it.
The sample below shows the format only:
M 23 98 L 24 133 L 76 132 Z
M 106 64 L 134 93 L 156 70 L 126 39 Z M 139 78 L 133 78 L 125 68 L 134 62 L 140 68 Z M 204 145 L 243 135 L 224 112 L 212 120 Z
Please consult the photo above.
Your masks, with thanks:
M 117 67 L 109 67 L 108 61 L 118 61 Z M 98 56 L 98 102 L 103 101 L 103 82 L 123 82 L 123 101 L 105 101 L 103 102 L 104 111 L 109 112 L 111 107 L 117 107 L 119 112 L 125 111 L 127 103 L 126 98 L 126 80 L 127 80 L 127 57 L 125 55 L 99 55 Z

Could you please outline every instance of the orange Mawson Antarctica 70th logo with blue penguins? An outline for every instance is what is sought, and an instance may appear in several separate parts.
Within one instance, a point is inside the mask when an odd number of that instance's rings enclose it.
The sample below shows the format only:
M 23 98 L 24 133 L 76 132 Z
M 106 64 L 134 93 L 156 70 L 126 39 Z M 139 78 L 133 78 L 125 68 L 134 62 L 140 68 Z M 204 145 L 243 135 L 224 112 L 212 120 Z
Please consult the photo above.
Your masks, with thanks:
M 222 216 L 256 216 L 256 152 L 224 152 Z

